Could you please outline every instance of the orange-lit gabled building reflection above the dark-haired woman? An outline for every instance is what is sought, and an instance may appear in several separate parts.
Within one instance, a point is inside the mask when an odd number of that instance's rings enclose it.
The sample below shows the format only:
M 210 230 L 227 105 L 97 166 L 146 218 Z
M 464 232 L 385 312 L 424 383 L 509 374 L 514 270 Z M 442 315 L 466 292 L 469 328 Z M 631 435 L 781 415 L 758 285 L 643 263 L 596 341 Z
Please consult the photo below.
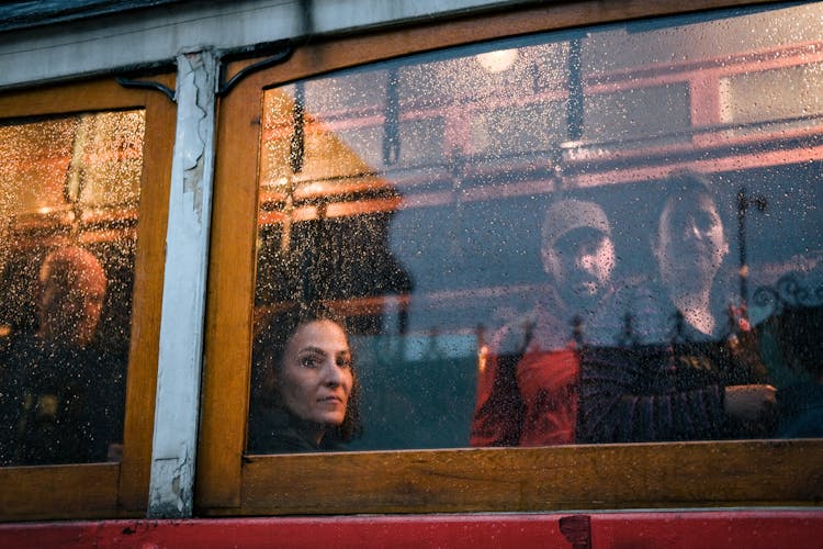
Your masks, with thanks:
M 402 198 L 302 100 L 266 101 L 257 303 L 332 301 L 374 332 L 383 306 L 370 298 L 413 287 L 388 248 Z

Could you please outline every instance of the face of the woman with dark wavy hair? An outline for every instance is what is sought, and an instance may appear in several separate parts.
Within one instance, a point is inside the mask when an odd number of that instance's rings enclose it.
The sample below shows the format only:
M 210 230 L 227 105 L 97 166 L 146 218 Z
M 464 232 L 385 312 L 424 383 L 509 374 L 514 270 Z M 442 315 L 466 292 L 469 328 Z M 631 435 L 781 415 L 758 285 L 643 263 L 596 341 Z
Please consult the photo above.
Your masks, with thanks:
M 291 413 L 320 425 L 340 425 L 353 383 L 351 351 L 332 321 L 304 324 L 289 338 L 278 388 Z

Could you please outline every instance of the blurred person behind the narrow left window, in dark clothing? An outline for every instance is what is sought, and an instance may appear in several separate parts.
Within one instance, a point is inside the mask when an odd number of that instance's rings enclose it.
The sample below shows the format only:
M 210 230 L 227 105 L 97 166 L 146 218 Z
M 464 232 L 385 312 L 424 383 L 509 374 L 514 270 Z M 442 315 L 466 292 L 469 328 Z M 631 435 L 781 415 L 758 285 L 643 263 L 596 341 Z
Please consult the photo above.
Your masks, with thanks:
M 37 329 L 2 357 L 3 464 L 103 461 L 122 438 L 122 402 L 92 339 L 108 280 L 78 246 L 52 250 L 37 287 Z M 120 391 L 122 392 L 122 391 Z

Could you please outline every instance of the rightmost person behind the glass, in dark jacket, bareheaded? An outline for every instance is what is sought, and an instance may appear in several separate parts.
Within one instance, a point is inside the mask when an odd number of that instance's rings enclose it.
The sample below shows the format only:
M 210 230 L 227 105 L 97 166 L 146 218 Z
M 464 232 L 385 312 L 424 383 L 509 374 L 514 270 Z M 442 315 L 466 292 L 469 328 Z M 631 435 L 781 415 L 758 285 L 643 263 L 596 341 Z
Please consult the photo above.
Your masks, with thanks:
M 580 354 L 580 442 L 748 438 L 774 429 L 776 390 L 745 310 L 712 299 L 729 245 L 707 181 L 677 173 L 666 184 L 672 194 L 654 246 L 661 280 L 647 287 L 651 303 L 635 309 L 635 343 Z

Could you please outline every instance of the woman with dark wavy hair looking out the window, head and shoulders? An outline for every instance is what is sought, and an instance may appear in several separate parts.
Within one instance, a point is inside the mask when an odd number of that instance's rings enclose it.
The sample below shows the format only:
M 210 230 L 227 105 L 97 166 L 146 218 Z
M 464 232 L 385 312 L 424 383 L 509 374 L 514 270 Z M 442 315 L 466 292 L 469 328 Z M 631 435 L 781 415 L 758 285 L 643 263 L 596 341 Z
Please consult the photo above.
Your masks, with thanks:
M 248 451 L 343 449 L 359 428 L 359 410 L 342 321 L 319 307 L 290 310 L 257 344 Z

